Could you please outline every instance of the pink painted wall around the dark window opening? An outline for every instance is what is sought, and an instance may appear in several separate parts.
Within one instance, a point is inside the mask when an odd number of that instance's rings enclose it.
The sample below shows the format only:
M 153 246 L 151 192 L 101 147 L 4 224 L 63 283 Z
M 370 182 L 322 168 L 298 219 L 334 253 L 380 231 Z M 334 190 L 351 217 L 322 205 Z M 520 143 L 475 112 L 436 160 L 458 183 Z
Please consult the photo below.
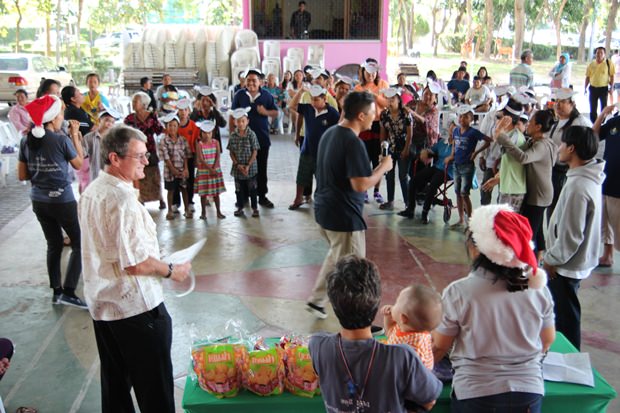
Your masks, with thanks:
M 244 29 L 250 29 L 250 1 L 252 0 L 243 0 Z M 366 58 L 373 57 L 379 61 L 381 76 L 386 79 L 388 15 L 389 0 L 382 0 L 380 40 L 280 40 L 280 58 L 286 56 L 286 51 L 290 47 L 303 48 L 307 56 L 308 45 L 318 43 L 325 46 L 326 69 L 331 71 L 349 63 L 360 64 Z M 263 41 L 261 39 L 259 39 L 259 44 L 262 56 Z

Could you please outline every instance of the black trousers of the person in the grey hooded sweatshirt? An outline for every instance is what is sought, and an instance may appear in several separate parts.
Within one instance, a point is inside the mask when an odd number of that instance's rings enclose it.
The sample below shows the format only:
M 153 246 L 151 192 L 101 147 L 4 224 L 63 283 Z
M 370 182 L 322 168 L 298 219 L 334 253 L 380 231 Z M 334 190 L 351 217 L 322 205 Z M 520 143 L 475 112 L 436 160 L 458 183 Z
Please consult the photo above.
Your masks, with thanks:
M 564 334 L 577 350 L 581 348 L 581 304 L 577 292 L 581 280 L 559 275 L 547 287 L 553 297 L 555 329 Z

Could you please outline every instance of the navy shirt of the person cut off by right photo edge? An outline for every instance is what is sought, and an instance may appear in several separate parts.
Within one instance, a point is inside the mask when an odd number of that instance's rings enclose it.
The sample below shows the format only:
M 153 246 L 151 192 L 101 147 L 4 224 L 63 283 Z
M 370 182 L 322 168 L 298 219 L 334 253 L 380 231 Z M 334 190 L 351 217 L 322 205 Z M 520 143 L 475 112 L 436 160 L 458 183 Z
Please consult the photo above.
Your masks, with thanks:
M 614 116 L 601 126 L 599 138 L 605 141 L 603 195 L 620 198 L 620 116 Z

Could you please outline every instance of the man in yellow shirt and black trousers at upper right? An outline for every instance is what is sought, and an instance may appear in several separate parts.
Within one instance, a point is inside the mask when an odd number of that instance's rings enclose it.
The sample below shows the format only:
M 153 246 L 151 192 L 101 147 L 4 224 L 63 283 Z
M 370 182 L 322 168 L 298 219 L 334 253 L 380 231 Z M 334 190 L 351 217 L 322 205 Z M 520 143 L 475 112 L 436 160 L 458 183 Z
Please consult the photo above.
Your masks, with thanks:
M 604 47 L 594 50 L 595 59 L 586 69 L 584 93 L 590 92 L 590 122 L 594 123 L 600 102 L 601 110 L 607 106 L 607 95 L 612 93 L 616 66 L 605 57 Z M 613 96 L 612 96 L 613 100 Z

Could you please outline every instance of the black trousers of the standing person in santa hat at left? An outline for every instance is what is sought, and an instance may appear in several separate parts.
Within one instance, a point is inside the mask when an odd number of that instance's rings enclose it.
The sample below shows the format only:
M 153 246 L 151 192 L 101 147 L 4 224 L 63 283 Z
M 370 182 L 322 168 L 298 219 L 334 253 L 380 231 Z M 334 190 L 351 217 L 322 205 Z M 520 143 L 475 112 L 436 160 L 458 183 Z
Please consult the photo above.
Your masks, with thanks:
M 80 240 L 80 223 L 77 216 L 77 202 L 51 204 L 32 201 L 32 210 L 41 224 L 41 229 L 47 241 L 47 275 L 50 279 L 50 288 L 77 287 L 82 272 L 82 247 Z M 71 239 L 71 255 L 67 263 L 65 282 L 61 281 L 60 262 L 62 259 L 63 235 L 65 230 Z

